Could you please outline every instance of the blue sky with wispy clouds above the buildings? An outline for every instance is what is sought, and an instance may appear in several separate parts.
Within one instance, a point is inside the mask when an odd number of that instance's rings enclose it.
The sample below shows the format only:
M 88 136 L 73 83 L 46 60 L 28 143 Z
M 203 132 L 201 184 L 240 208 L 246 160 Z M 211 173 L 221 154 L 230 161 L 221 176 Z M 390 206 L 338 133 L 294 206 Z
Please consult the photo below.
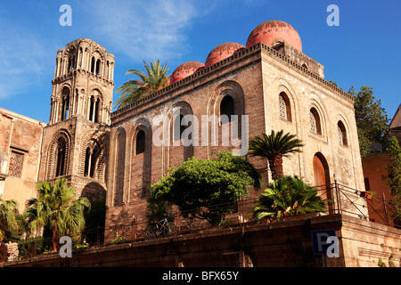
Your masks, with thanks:
M 62 4 L 72 8 L 71 27 L 59 23 Z M 329 4 L 340 8 L 338 27 L 326 24 Z M 168 61 L 172 73 L 185 61 L 204 62 L 217 45 L 245 45 L 266 20 L 283 20 L 327 80 L 346 91 L 373 87 L 392 118 L 401 103 L 400 14 L 399 0 L 2 0 L 0 107 L 47 123 L 57 50 L 79 37 L 115 55 L 117 89 L 143 60 Z

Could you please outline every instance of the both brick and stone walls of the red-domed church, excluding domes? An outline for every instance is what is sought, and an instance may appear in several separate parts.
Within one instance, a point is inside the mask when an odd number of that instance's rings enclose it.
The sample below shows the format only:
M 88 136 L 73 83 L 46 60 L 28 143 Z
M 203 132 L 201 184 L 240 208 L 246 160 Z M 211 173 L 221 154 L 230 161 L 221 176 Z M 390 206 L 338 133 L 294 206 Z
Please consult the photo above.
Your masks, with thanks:
M 291 49 L 289 51 L 291 52 Z M 297 54 L 293 52 L 291 56 L 300 56 Z M 143 177 L 137 170 L 141 166 L 142 171 L 151 173 L 152 184 L 167 173 L 168 167 L 179 166 L 192 154 L 197 159 L 211 159 L 216 158 L 219 151 L 238 150 L 238 147 L 233 146 L 234 141 L 230 141 L 227 146 L 222 145 L 223 134 L 227 132 L 224 125 L 217 126 L 217 145 L 211 136 L 210 126 L 209 129 L 206 128 L 207 132 L 202 132 L 205 130 L 202 128 L 202 116 L 215 115 L 218 118 L 220 102 L 225 95 L 233 98 L 235 114 L 248 116 L 248 134 L 242 134 L 247 140 L 241 142 L 248 145 L 249 140 L 255 135 L 270 134 L 272 129 L 275 131 L 282 129 L 284 133 L 296 134 L 305 143 L 302 153 L 284 159 L 283 167 L 286 175 L 299 175 L 307 183 L 315 185 L 313 160 L 315 155 L 319 155 L 327 165 L 328 183 L 337 180 L 348 187 L 363 190 L 364 177 L 352 99 L 348 94 L 324 81 L 322 77 L 307 69 L 301 69 L 300 60 L 291 60 L 265 45 L 255 45 L 225 61 L 202 69 L 191 77 L 169 85 L 156 94 L 148 95 L 132 106 L 114 112 L 110 131 L 107 199 L 110 210 L 117 206 L 114 205 L 116 195 L 122 199 L 120 202 L 125 204 L 125 208 L 130 208 L 129 204 L 133 205 L 139 200 L 144 202 L 147 195 L 139 199 L 138 195 L 133 194 L 137 191 L 135 189 L 138 185 L 143 185 L 141 181 Z M 323 67 L 317 62 L 315 69 L 319 70 L 319 73 L 323 72 Z M 290 105 L 290 120 L 280 117 L 279 95 L 282 93 L 286 95 Z M 174 145 L 175 108 L 180 109 L 184 115 L 193 114 L 198 119 L 198 145 L 184 147 L 182 142 L 179 146 Z M 315 108 L 319 115 L 320 134 L 314 134 L 310 130 L 311 108 Z M 155 118 L 160 115 L 165 115 L 161 124 L 155 122 Z M 339 122 L 345 126 L 344 133 L 341 133 L 344 135 L 344 143 L 339 141 Z M 232 125 L 233 123 L 226 124 L 229 127 Z M 151 151 L 145 154 L 150 161 L 147 164 L 135 158 L 133 151 L 135 134 L 139 126 L 151 135 Z M 118 138 L 121 137 L 117 134 L 125 134 L 123 142 L 119 142 L 126 145 L 125 150 L 118 147 Z M 149 135 L 147 135 L 148 140 Z M 206 143 L 204 143 L 205 136 Z M 166 141 L 161 143 L 159 138 Z M 156 144 L 155 140 L 160 144 Z M 247 151 L 246 148 L 245 153 Z M 269 171 L 266 169 L 266 159 L 250 156 L 247 156 L 247 159 L 263 175 L 264 183 L 268 183 Z M 124 161 L 128 166 L 124 168 L 124 173 L 121 173 L 119 161 Z M 148 189 L 144 191 L 149 193 Z M 114 216 L 118 216 L 115 209 L 112 212 Z M 106 220 L 108 225 L 118 222 L 118 219 Z

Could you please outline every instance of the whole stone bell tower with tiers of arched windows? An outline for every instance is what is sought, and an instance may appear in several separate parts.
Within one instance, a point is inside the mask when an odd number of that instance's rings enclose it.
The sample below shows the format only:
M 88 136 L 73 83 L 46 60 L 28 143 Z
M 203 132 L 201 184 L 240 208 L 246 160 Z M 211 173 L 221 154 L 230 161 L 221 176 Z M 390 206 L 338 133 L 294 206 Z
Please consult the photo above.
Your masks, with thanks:
M 106 191 L 114 55 L 78 38 L 57 52 L 39 181 L 65 177 L 81 196 Z

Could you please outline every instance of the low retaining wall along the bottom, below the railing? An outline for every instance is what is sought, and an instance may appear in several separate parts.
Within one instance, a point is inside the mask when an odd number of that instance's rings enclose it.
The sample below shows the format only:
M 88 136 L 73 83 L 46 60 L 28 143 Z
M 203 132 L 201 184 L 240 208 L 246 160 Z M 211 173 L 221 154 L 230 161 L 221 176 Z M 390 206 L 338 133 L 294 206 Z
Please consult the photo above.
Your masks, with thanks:
M 339 257 L 315 255 L 312 231 L 334 230 Z M 401 232 L 351 216 L 299 216 L 273 224 L 197 232 L 168 239 L 73 250 L 0 264 L 20 267 L 377 267 L 400 266 Z

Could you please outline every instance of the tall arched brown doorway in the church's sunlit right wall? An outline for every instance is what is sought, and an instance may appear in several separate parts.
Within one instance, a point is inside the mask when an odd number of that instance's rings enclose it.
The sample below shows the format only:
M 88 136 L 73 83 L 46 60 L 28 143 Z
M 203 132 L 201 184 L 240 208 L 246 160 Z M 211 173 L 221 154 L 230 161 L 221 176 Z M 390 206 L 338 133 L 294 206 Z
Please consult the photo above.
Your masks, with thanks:
M 322 153 L 314 156 L 315 187 L 322 199 L 331 199 L 329 165 Z

